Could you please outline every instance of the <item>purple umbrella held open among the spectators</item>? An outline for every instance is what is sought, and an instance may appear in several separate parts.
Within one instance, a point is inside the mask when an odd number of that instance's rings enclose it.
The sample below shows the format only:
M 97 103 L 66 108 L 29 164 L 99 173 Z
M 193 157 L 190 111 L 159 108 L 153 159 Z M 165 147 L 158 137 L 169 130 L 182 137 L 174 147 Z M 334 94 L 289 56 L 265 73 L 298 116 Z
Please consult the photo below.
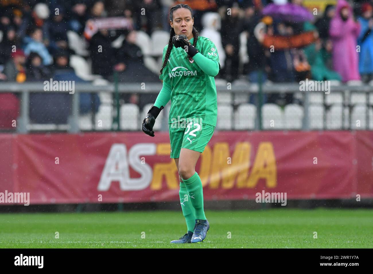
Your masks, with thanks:
M 262 10 L 263 15 L 271 16 L 274 19 L 279 19 L 292 23 L 300 23 L 311 21 L 313 19 L 305 7 L 287 3 L 284 5 L 269 4 Z

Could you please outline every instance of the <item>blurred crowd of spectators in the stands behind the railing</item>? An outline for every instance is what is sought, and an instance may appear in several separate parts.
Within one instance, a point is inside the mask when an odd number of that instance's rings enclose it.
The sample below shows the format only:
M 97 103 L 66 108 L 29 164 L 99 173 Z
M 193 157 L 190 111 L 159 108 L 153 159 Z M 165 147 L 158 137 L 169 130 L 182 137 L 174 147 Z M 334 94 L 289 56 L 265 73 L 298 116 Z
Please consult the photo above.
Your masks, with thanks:
M 85 82 L 72 65 L 72 56 L 89 64 L 93 75 L 121 82 L 159 81 L 158 73 L 144 63 L 138 31 L 149 36 L 154 31 L 169 32 L 170 6 L 188 4 L 194 10 L 194 26 L 201 36 L 216 44 L 222 69 L 216 79 L 299 82 L 306 78 L 342 83 L 369 83 L 373 79 L 373 6 L 369 1 L 334 1 L 312 20 L 283 20 L 263 14 L 269 4 L 286 0 L 12 0 L 0 1 L 0 82 L 53 80 Z M 302 0 L 289 1 L 302 6 Z M 333 2 L 333 1 L 332 1 Z M 227 12 L 229 10 L 229 12 Z M 310 13 L 312 14 L 312 10 Z M 93 19 L 120 17 L 122 27 L 93 30 Z M 105 22 L 103 22 L 105 23 Z M 72 37 L 69 37 L 69 34 Z M 74 36 L 75 35 L 75 36 Z M 124 37 L 119 46 L 113 42 Z M 71 46 L 78 37 L 87 44 L 81 52 Z M 244 44 L 242 43 L 244 41 Z M 102 47 L 103 51 L 97 50 Z M 163 44 L 159 47 L 163 48 Z M 159 56 L 153 56 L 159 58 Z M 162 56 L 160 56 L 162 58 Z M 158 68 L 159 70 L 159 68 Z M 141 71 L 141 73 L 139 73 Z M 17 105 L 14 94 L 0 93 L 0 108 Z M 60 96 L 60 97 L 59 97 Z M 82 93 L 81 113 L 97 111 L 100 98 Z M 292 94 L 271 95 L 292 102 Z M 280 98 L 284 96 L 284 98 Z M 139 103 L 138 95 L 123 95 Z M 151 98 L 152 101 L 154 97 Z M 70 97 L 65 94 L 32 93 L 30 118 L 48 123 L 42 105 L 59 102 L 60 113 L 68 113 Z M 1 103 L 3 102 L 3 103 Z M 53 103 L 54 102 L 54 103 Z M 63 102 L 61 104 L 61 102 Z M 54 108 L 54 111 L 56 108 Z M 51 110 L 52 111 L 52 110 Z M 61 117 L 66 117 L 61 115 Z M 52 121 L 63 123 L 66 121 Z

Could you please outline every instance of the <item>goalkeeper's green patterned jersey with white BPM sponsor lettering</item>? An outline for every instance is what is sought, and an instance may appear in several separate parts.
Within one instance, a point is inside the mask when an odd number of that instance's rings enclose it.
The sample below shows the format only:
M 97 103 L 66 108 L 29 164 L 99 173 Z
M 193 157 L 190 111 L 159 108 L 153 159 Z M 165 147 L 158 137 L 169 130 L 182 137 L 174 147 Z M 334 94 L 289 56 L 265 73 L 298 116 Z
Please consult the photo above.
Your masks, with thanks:
M 190 40 L 193 44 L 194 38 Z M 163 59 L 168 45 L 163 49 Z M 219 64 L 219 54 L 214 43 L 206 37 L 199 36 L 195 47 L 203 56 Z M 186 59 L 182 47 L 172 47 L 166 66 L 159 79 L 171 85 L 171 107 L 168 123 L 185 123 L 196 119 L 207 125 L 216 126 L 217 100 L 213 76 L 201 70 L 193 59 Z

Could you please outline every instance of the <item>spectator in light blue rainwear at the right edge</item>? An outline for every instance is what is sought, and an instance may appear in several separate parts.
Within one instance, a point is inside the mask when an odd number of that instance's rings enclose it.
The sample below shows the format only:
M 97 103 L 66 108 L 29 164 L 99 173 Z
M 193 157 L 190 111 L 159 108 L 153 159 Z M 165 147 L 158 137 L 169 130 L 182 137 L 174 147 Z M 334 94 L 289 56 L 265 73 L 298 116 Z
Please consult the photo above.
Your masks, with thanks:
M 369 3 L 364 3 L 361 11 L 358 19 L 361 31 L 357 40 L 360 45 L 359 72 L 363 81 L 369 82 L 373 75 L 373 7 Z

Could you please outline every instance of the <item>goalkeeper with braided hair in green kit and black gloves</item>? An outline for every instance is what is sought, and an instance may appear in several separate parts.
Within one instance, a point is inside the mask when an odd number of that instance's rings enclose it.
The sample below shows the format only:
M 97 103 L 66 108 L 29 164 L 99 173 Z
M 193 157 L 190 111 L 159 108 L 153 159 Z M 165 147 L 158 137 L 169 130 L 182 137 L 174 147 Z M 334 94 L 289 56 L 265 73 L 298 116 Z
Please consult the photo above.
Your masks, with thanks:
M 195 165 L 216 126 L 216 86 L 220 69 L 214 43 L 198 36 L 192 9 L 178 4 L 170 9 L 170 40 L 163 49 L 159 79 L 162 89 L 142 122 L 142 131 L 154 137 L 155 119 L 171 100 L 171 153 L 180 181 L 180 202 L 187 233 L 171 243 L 197 243 L 206 238 L 209 222 L 203 210 L 203 190 Z

